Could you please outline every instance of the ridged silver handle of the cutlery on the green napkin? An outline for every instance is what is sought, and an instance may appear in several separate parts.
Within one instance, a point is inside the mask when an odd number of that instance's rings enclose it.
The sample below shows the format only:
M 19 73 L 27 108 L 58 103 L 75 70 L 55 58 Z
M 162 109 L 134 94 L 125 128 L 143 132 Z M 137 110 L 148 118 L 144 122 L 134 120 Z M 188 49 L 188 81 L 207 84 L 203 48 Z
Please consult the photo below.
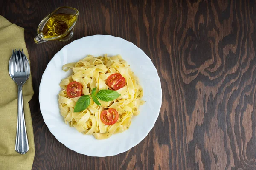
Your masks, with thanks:
M 22 86 L 18 85 L 18 118 L 15 150 L 17 153 L 25 154 L 29 151 L 29 142 L 24 118 Z

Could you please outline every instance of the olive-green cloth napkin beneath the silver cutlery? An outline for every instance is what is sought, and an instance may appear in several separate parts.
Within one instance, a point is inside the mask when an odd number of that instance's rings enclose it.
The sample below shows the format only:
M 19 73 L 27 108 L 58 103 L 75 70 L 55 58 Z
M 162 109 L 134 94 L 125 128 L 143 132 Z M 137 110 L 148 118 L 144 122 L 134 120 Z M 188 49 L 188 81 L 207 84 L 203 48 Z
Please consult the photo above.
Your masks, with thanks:
M 28 56 L 24 41 L 24 28 L 10 23 L 0 15 L 0 170 L 29 170 L 35 156 L 34 134 L 29 101 L 34 91 L 31 76 L 23 85 L 23 104 L 29 151 L 21 155 L 15 151 L 17 128 L 17 85 L 9 76 L 9 59 L 12 49 L 23 49 Z

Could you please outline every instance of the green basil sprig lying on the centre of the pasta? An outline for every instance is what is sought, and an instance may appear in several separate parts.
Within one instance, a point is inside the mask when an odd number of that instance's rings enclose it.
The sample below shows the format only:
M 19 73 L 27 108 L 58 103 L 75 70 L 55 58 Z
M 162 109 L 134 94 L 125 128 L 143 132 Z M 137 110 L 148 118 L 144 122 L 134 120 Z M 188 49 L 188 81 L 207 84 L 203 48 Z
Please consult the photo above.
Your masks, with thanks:
M 104 102 L 109 102 L 121 96 L 121 94 L 113 90 L 100 90 L 98 93 L 96 93 L 96 88 L 97 87 L 93 88 L 91 96 L 84 95 L 77 100 L 74 112 L 81 112 L 82 110 L 86 109 L 90 105 L 90 97 L 92 97 L 93 102 L 101 106 L 98 99 Z

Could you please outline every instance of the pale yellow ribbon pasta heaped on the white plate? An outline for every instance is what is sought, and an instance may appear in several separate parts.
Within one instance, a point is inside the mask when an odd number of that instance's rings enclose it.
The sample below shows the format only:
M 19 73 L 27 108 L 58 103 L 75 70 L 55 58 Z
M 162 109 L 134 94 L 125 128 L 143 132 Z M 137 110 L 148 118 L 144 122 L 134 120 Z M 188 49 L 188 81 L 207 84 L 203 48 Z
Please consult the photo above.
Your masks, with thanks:
M 93 57 L 88 55 L 76 63 L 63 65 L 63 71 L 72 70 L 73 74 L 62 79 L 59 93 L 59 107 L 64 121 L 70 127 L 75 127 L 77 131 L 93 135 L 96 139 L 107 139 L 112 134 L 121 133 L 131 125 L 133 115 L 140 114 L 139 106 L 145 101 L 143 89 L 139 84 L 138 78 L 131 71 L 128 63 L 120 55 L 107 57 Z M 82 85 L 83 95 L 90 95 L 93 88 L 96 92 L 103 89 L 110 89 L 107 79 L 111 74 L 120 73 L 125 78 L 126 85 L 117 92 L 121 94 L 117 99 L 110 102 L 99 100 L 101 106 L 91 99 L 90 105 L 81 112 L 74 112 L 76 102 L 81 97 L 69 98 L 67 96 L 67 85 L 76 81 Z M 108 108 L 116 109 L 119 113 L 118 121 L 113 125 L 105 125 L 100 118 L 100 113 Z

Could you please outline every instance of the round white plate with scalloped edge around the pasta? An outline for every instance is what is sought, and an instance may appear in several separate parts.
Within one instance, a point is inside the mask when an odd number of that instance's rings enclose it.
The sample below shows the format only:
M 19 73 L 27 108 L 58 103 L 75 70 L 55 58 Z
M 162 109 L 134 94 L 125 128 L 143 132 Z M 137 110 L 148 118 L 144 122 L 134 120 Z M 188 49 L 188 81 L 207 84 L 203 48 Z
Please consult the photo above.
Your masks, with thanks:
M 62 66 L 78 62 L 88 54 L 120 54 L 139 78 L 144 91 L 143 100 L 146 101 L 139 108 L 140 115 L 133 116 L 128 130 L 105 140 L 96 140 L 92 135 L 83 135 L 74 127 L 66 125 L 58 106 L 58 93 L 61 90 L 59 83 L 71 75 L 71 71 L 62 71 Z M 84 155 L 113 156 L 136 146 L 153 128 L 161 107 L 162 89 L 157 69 L 140 48 L 119 37 L 94 35 L 75 40 L 55 54 L 42 76 L 39 102 L 44 122 L 59 142 Z

